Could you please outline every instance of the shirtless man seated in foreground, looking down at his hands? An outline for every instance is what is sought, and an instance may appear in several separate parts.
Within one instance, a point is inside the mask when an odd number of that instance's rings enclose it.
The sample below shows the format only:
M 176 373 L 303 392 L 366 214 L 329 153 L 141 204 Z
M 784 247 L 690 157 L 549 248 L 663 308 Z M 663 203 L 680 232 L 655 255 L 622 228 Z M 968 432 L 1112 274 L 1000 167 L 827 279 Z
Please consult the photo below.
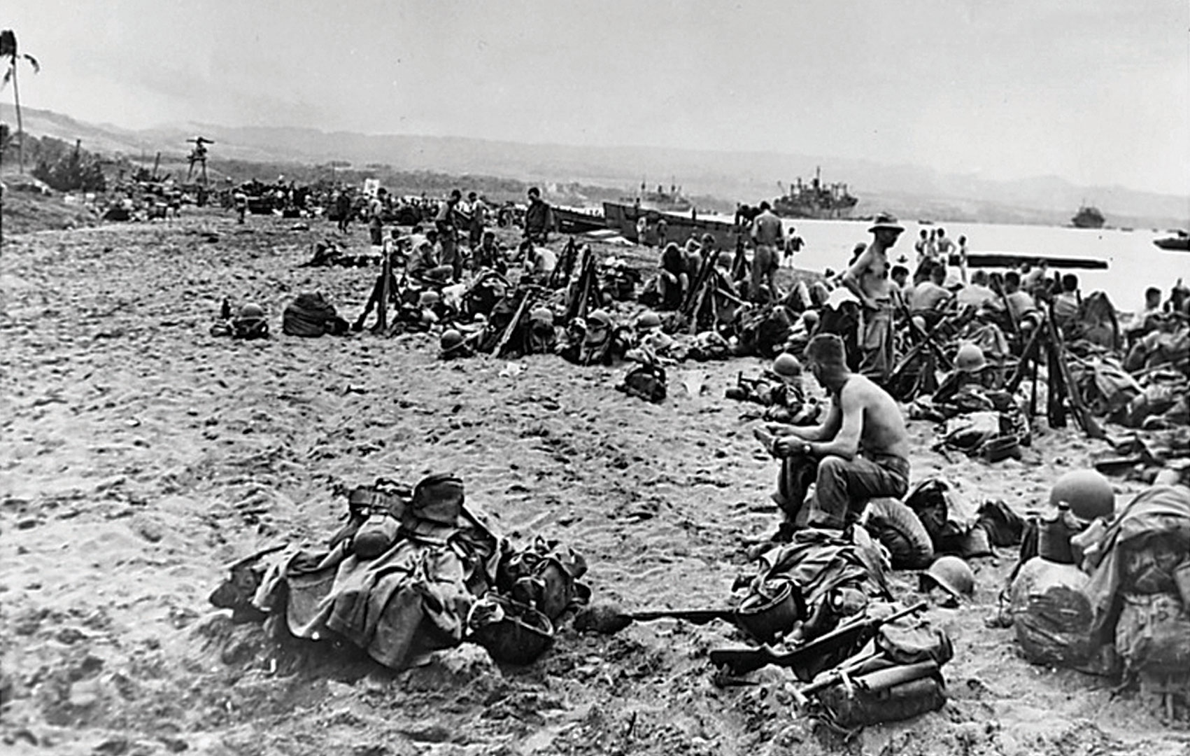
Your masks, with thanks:
M 909 438 L 901 408 L 879 386 L 847 369 L 843 339 L 820 333 L 806 346 L 804 362 L 831 394 L 831 410 L 816 427 L 772 425 L 756 437 L 781 458 L 772 499 L 785 519 L 774 541 L 797 527 L 851 525 L 869 499 L 909 489 Z M 802 512 L 809 485 L 814 505 Z

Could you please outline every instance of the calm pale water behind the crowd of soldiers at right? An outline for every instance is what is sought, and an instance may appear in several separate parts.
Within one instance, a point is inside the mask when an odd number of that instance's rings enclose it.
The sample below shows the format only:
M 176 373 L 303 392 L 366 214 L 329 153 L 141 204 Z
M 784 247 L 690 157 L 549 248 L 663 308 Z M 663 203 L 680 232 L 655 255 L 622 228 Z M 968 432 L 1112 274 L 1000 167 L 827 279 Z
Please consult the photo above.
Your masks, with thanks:
M 795 226 L 806 246 L 795 257 L 800 268 L 835 271 L 851 260 L 857 242 L 871 240 L 870 224 L 858 220 L 787 220 Z M 1170 236 L 1166 231 L 1150 229 L 1120 231 L 1111 229 L 1059 229 L 1051 226 L 1010 226 L 982 223 L 939 223 L 919 225 L 902 221 L 906 231 L 890 258 L 904 255 L 916 260 L 913 245 L 920 229 L 946 229 L 946 236 L 958 242 L 966 236 L 971 252 L 1017 252 L 1047 257 L 1090 257 L 1106 260 L 1107 270 L 1071 270 L 1078 276 L 1083 294 L 1104 290 L 1117 310 L 1139 310 L 1145 289 L 1157 286 L 1169 292 L 1177 279 L 1190 285 L 1190 252 L 1170 252 L 1153 245 L 1153 239 Z M 912 268 L 910 268 L 912 269 Z

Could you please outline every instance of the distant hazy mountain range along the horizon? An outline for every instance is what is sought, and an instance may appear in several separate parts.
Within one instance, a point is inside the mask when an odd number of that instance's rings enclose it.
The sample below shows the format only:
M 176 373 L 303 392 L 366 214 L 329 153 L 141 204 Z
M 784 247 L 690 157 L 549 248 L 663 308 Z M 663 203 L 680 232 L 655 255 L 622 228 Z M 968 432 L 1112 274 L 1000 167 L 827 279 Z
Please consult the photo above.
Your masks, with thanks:
M 889 165 L 865 160 L 779 152 L 703 151 L 649 146 L 593 148 L 520 144 L 464 137 L 324 132 L 293 126 L 219 126 L 181 124 L 133 131 L 88 124 L 50 111 L 25 108 L 25 130 L 36 136 L 82 139 L 100 152 L 151 158 L 157 151 L 181 157 L 186 139 L 201 133 L 215 140 L 212 157 L 326 163 L 356 167 L 383 163 L 399 170 L 505 176 L 534 182 L 581 182 L 620 188 L 625 194 L 641 181 L 671 183 L 688 194 L 756 204 L 781 193 L 801 176 L 822 167 L 826 182 L 846 182 L 860 198 L 857 214 L 882 210 L 907 219 L 1065 225 L 1086 202 L 1098 207 L 1108 225 L 1123 227 L 1190 226 L 1190 196 L 1138 192 L 1125 187 L 1081 187 L 1058 176 L 990 181 L 973 175 L 941 174 L 915 165 Z M 0 105 L 0 119 L 13 124 L 11 105 Z

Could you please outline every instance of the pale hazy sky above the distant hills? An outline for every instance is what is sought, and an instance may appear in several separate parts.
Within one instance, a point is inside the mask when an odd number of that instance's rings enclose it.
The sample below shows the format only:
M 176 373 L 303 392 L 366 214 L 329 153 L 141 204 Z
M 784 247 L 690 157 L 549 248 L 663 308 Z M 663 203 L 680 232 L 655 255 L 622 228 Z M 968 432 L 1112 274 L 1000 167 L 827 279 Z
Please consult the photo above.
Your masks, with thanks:
M 5 0 L 0 27 L 42 63 L 24 105 L 120 126 L 779 150 L 1190 194 L 1188 0 Z

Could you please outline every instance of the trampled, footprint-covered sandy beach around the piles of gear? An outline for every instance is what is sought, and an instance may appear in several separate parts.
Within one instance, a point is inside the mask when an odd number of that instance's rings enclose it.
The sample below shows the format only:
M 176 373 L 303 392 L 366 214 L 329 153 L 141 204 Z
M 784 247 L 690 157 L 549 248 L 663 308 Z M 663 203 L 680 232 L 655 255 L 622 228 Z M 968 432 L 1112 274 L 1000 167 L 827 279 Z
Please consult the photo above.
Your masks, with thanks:
M 281 335 L 321 290 L 349 320 L 375 269 L 308 269 L 331 224 L 193 215 L 6 238 L 0 406 L 0 737 L 6 754 L 1185 754 L 1190 733 L 1111 682 L 1021 660 L 988 629 L 1015 562 L 975 561 L 975 602 L 931 608 L 954 644 L 950 702 L 844 743 L 793 714 L 784 673 L 716 688 L 725 623 L 566 627 L 537 664 L 500 669 L 475 645 L 387 674 L 278 654 L 208 594 L 237 558 L 324 541 L 378 476 L 452 470 L 503 535 L 558 539 L 590 564 L 597 601 L 725 606 L 749 542 L 776 524 L 776 463 L 754 406 L 725 399 L 757 358 L 685 363 L 660 405 L 625 369 L 556 357 L 441 362 L 437 336 Z M 212 240 L 214 238 L 215 240 Z M 365 230 L 352 237 L 363 251 Z M 560 244 L 556 244 L 560 249 Z M 607 246 L 600 248 L 607 254 Z M 274 335 L 208 333 L 220 302 L 257 301 Z M 691 395 L 683 379 L 704 391 Z M 945 475 L 1027 513 L 1103 446 L 1039 421 L 1023 460 L 987 466 L 929 448 L 910 424 L 913 480 Z M 1117 483 L 1117 494 L 1140 483 Z M 916 576 L 896 573 L 912 596 Z

